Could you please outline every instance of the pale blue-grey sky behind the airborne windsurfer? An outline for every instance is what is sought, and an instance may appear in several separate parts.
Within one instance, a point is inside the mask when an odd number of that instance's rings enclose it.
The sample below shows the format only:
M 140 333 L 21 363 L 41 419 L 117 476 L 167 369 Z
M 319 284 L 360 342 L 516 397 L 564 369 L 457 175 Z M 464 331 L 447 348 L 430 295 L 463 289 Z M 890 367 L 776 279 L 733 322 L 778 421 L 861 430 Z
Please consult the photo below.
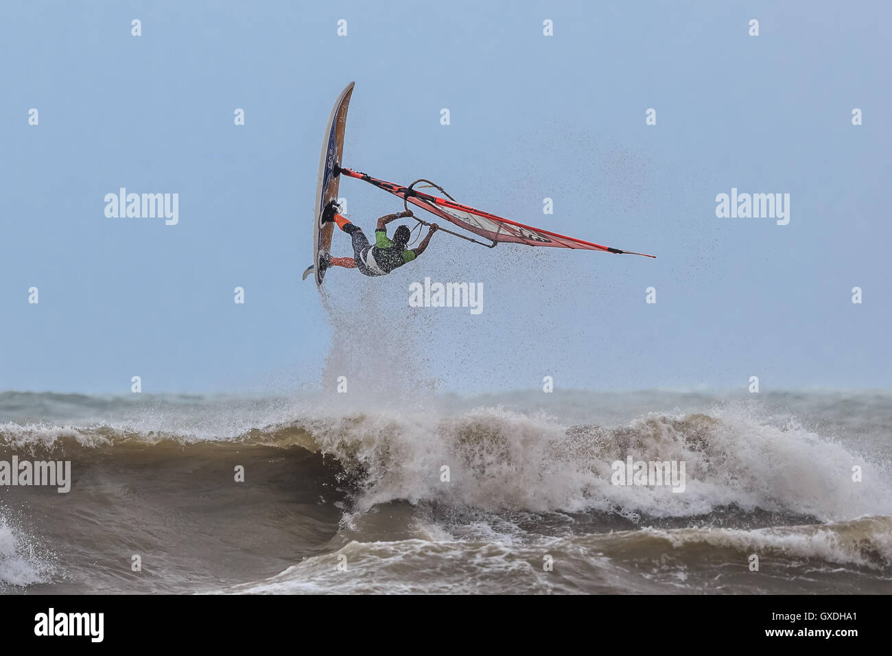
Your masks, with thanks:
M 455 391 L 890 386 L 890 5 L 425 5 L 0 5 L 0 389 L 312 388 L 337 341 Z M 347 166 L 657 260 L 441 234 L 324 304 L 301 271 L 351 80 Z M 177 193 L 178 224 L 106 217 L 120 187 Z M 732 187 L 789 224 L 716 217 Z M 341 195 L 369 235 L 401 209 Z M 483 312 L 409 308 L 425 276 Z

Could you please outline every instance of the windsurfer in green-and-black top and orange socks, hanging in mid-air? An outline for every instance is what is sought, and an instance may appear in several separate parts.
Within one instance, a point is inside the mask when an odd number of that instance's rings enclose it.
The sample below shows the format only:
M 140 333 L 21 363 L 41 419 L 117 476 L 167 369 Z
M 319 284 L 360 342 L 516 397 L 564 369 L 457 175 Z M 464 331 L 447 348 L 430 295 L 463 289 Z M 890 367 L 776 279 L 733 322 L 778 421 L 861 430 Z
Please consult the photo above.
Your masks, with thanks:
M 338 228 L 350 235 L 353 242 L 353 257 L 331 257 L 328 255 L 323 260 L 323 266 L 344 267 L 346 269 L 359 269 L 365 276 L 386 276 L 394 269 L 400 268 L 406 262 L 412 262 L 418 255 L 425 252 L 431 237 L 440 227 L 434 223 L 421 244 L 415 248 L 406 248 L 409 243 L 411 231 L 407 226 L 400 226 L 393 232 L 393 239 L 387 237 L 385 226 L 392 220 L 413 216 L 411 210 L 387 214 L 378 219 L 375 228 L 375 244 L 368 243 L 368 237 L 362 229 L 354 226 L 349 219 L 337 213 L 340 208 L 334 200 L 326 205 L 322 212 L 322 223 L 335 221 Z

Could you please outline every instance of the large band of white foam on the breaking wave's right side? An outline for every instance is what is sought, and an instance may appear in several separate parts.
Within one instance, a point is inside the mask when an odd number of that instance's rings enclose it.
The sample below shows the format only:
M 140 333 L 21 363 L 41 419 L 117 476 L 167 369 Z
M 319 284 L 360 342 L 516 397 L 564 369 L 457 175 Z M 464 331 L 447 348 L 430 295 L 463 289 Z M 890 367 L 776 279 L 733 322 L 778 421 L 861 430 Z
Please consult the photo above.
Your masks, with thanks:
M 316 419 L 315 442 L 368 471 L 364 507 L 406 499 L 487 511 L 615 510 L 687 517 L 716 507 L 777 511 L 823 521 L 882 515 L 892 488 L 880 466 L 796 426 L 736 407 L 714 416 L 652 415 L 621 428 L 569 428 L 545 415 L 478 408 L 446 417 L 391 412 Z M 614 486 L 610 464 L 628 455 L 685 461 L 682 494 Z M 450 481 L 442 481 L 443 467 Z M 852 479 L 853 467 L 863 480 Z

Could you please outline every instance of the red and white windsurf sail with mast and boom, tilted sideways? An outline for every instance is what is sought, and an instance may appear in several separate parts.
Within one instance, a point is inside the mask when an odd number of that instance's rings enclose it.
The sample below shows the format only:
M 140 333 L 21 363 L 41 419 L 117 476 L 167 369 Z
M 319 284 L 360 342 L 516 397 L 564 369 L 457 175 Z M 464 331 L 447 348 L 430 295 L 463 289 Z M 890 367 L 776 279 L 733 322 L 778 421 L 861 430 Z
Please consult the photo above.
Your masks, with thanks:
M 582 239 L 577 239 L 575 237 L 559 235 L 557 232 L 543 230 L 542 228 L 533 228 L 532 226 L 524 226 L 523 223 L 517 223 L 516 221 L 503 219 L 502 217 L 496 216 L 495 214 L 483 212 L 482 210 L 477 210 L 474 207 L 463 205 L 462 203 L 457 203 L 455 199 L 453 199 L 449 194 L 446 194 L 442 187 L 434 185 L 434 183 L 431 183 L 429 180 L 416 180 L 411 185 L 409 185 L 409 187 L 403 187 L 401 185 L 396 185 L 392 182 L 388 182 L 387 180 L 372 178 L 367 173 L 361 173 L 359 171 L 343 167 L 336 167 L 335 171 L 336 173 L 339 172 L 350 178 L 360 179 L 368 182 L 369 184 L 374 185 L 379 189 L 384 189 L 384 191 L 388 191 L 392 195 L 396 195 L 402 198 L 404 203 L 412 203 L 413 205 L 416 205 L 417 207 L 420 207 L 427 212 L 431 212 L 432 214 L 440 217 L 443 220 L 450 221 L 450 223 L 458 226 L 458 228 L 463 228 L 468 232 L 474 233 L 478 237 L 489 239 L 491 241 L 491 244 L 483 244 L 484 246 L 493 247 L 502 242 L 510 242 L 514 244 L 525 244 L 528 246 L 577 248 L 586 251 L 604 251 L 605 253 L 628 253 L 631 255 L 643 255 L 644 257 L 657 257 L 656 255 L 648 255 L 647 253 L 623 251 L 619 248 L 612 248 L 610 246 L 595 244 L 593 242 L 583 241 Z M 449 197 L 441 198 L 440 196 L 425 194 L 425 192 L 423 191 L 418 191 L 417 189 L 413 188 L 418 182 L 429 183 L 431 186 L 438 188 L 444 195 L 447 195 Z M 424 225 L 429 225 L 426 221 L 420 220 L 417 217 L 416 220 Z M 465 237 L 464 235 L 459 235 L 455 232 L 450 232 L 450 230 L 445 231 L 449 232 L 451 235 L 463 237 L 465 239 L 468 239 L 468 241 L 473 241 L 476 244 L 482 244 L 482 242 L 478 242 L 475 239 Z

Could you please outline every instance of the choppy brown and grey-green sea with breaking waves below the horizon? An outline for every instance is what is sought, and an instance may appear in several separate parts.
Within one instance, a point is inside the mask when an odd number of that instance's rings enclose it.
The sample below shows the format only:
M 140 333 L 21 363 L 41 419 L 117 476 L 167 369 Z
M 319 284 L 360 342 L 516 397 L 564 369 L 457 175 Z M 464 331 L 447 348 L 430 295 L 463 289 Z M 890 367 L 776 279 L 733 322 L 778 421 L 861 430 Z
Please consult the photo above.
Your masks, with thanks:
M 890 445 L 888 391 L 4 392 L 70 491 L 0 486 L 0 591 L 889 594 Z

